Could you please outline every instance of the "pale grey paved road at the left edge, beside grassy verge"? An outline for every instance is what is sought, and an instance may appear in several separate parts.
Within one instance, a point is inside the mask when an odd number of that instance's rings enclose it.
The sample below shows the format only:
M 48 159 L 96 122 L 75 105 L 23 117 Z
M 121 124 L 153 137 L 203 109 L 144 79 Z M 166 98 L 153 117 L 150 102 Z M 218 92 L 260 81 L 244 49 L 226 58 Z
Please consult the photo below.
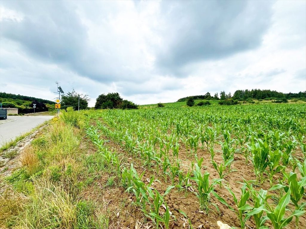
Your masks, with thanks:
M 51 115 L 12 116 L 16 121 L 0 124 L 0 147 L 16 137 L 29 132 L 39 124 L 54 118 Z

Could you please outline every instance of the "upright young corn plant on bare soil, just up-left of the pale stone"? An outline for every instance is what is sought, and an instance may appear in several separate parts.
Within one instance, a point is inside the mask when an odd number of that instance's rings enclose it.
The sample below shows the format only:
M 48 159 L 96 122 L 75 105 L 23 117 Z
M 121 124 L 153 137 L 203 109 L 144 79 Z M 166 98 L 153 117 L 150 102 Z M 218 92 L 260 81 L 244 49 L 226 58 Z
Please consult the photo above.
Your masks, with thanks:
M 214 191 L 215 184 L 221 182 L 221 179 L 214 180 L 213 183 L 209 183 L 209 173 L 204 173 L 202 175 L 200 167 L 196 164 L 196 170 L 193 171 L 193 177 L 190 177 L 190 180 L 194 180 L 198 187 L 198 193 L 196 196 L 200 200 L 200 209 L 205 209 L 206 213 L 208 214 L 209 205 L 214 205 L 217 209 L 218 206 L 210 202 L 210 195 Z

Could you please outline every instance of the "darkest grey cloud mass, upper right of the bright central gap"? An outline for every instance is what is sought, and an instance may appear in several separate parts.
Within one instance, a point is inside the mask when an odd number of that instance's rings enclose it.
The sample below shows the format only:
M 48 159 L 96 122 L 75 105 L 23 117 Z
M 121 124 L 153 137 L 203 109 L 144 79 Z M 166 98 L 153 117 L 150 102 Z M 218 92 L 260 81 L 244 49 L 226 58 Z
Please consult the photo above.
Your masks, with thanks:
M 173 1 L 171 1 L 171 4 Z M 207 59 L 219 59 L 261 44 L 271 19 L 272 2 L 163 2 L 165 43 L 157 63 L 165 71 Z M 169 34 L 166 36 L 166 34 Z

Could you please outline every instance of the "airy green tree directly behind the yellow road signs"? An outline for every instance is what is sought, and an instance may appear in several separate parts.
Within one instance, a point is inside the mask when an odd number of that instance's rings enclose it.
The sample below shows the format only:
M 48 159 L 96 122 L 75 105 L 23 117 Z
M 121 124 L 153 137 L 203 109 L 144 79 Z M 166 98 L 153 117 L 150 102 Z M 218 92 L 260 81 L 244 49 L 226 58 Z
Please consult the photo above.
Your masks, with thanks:
M 78 110 L 79 95 L 80 95 L 80 110 L 87 109 L 88 101 L 90 100 L 88 98 L 88 95 L 78 94 L 76 93 L 74 89 L 72 89 L 72 92 L 68 92 L 67 94 L 62 96 L 62 99 L 61 99 L 62 108 L 66 109 L 67 107 L 73 107 L 75 111 Z

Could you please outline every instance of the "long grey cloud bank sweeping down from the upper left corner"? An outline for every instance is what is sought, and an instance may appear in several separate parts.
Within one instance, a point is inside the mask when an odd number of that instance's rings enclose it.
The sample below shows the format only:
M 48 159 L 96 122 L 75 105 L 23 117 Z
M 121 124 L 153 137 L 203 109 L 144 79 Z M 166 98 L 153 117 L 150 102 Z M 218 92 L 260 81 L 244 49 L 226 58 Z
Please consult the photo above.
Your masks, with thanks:
M 100 82 L 121 79 L 144 81 L 148 77 L 144 69 L 140 77 L 139 74 L 122 67 L 125 63 L 120 61 L 121 53 L 116 53 L 119 48 L 115 41 L 105 42 L 103 45 L 101 40 L 102 48 L 91 45 L 88 28 L 77 13 L 77 3 L 1 1 L 2 6 L 23 15 L 20 22 L 10 19 L 1 21 L 1 39 L 18 42 L 35 59 L 58 64 L 78 75 Z M 104 13 L 105 9 L 101 8 L 100 14 Z M 107 26 L 101 24 L 99 29 L 105 37 L 108 36 Z

